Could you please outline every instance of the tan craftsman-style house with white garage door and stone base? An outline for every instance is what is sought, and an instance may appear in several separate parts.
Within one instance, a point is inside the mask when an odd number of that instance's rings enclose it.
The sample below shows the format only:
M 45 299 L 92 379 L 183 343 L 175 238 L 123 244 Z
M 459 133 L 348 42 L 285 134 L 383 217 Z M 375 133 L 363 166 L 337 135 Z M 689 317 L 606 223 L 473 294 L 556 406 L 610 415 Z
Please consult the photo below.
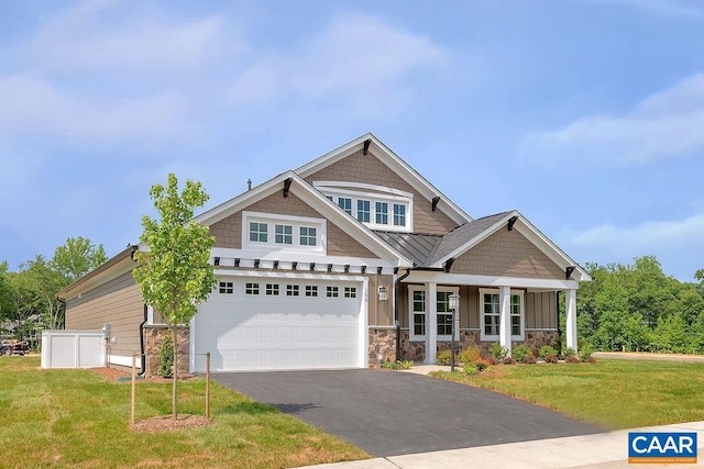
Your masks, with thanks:
M 452 339 L 452 294 L 461 347 L 536 349 L 560 335 L 562 291 L 576 349 L 584 269 L 515 210 L 472 219 L 372 134 L 195 221 L 216 238 L 218 284 L 180 331 L 191 371 L 208 351 L 216 371 L 432 364 Z M 132 278 L 135 249 L 61 298 L 66 328 L 110 324 L 110 361 L 145 351 L 151 370 L 165 328 Z

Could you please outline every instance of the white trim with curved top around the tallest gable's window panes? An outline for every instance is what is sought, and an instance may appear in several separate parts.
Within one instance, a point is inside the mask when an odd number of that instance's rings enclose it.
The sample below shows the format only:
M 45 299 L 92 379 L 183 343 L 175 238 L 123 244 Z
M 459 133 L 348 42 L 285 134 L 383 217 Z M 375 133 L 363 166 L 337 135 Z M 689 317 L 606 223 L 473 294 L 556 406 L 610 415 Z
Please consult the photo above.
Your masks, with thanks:
M 370 202 L 370 221 L 360 222 L 369 226 L 372 230 L 391 231 L 391 232 L 408 232 L 414 230 L 414 194 L 410 192 L 404 192 L 397 189 L 385 188 L 382 186 L 372 186 L 353 182 L 332 182 L 321 181 L 314 182 L 314 186 L 320 190 L 326 197 L 332 198 L 332 202 L 339 205 L 339 198 L 352 200 L 352 216 L 358 220 L 358 201 L 366 200 Z M 342 189 L 342 187 L 353 187 L 360 190 Z M 376 202 L 384 202 L 388 204 L 387 224 L 376 223 Z M 394 204 L 406 206 L 406 224 L 403 226 L 394 225 Z

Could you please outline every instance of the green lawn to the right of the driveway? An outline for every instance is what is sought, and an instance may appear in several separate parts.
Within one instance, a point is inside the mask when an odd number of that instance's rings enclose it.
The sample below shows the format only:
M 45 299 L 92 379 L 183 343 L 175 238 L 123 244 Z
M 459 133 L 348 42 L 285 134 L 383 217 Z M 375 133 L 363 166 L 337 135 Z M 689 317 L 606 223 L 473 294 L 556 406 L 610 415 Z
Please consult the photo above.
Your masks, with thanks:
M 598 360 L 436 378 L 498 391 L 607 429 L 704 421 L 704 364 Z

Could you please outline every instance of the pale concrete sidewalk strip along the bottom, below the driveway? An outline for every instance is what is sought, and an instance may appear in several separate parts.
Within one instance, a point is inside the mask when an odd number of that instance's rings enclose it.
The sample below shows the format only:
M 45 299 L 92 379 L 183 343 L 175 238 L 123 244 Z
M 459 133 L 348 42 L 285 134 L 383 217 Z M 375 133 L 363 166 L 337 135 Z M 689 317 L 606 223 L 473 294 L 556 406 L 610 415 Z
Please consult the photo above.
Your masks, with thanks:
M 696 465 L 629 465 L 628 432 L 697 432 Z M 309 466 L 316 469 L 549 469 L 549 468 L 662 468 L 704 467 L 704 422 L 626 429 L 598 435 L 571 436 L 362 461 Z

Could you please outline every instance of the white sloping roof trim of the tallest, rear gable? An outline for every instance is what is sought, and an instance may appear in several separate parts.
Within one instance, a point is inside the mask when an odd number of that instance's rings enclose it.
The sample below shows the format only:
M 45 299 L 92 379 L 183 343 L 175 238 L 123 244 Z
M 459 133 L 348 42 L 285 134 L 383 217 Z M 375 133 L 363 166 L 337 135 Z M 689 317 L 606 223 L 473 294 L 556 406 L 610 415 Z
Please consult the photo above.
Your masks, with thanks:
M 369 141 L 369 144 L 365 142 Z M 364 148 L 376 156 L 376 158 L 397 174 L 402 179 L 414 187 L 419 194 L 429 201 L 439 197 L 438 210 L 448 215 L 458 225 L 472 221 L 472 217 L 468 215 L 460 206 L 446 197 L 438 188 L 431 185 L 426 178 L 424 178 L 418 171 L 416 171 L 410 165 L 404 161 L 398 155 L 396 155 L 391 148 L 388 148 L 382 141 L 380 141 L 374 134 L 366 133 L 361 137 L 353 139 L 352 142 L 342 145 L 339 148 L 329 152 L 321 157 L 308 163 L 296 169 L 296 174 L 301 178 L 307 178 L 321 169 L 350 156 L 351 154 Z

